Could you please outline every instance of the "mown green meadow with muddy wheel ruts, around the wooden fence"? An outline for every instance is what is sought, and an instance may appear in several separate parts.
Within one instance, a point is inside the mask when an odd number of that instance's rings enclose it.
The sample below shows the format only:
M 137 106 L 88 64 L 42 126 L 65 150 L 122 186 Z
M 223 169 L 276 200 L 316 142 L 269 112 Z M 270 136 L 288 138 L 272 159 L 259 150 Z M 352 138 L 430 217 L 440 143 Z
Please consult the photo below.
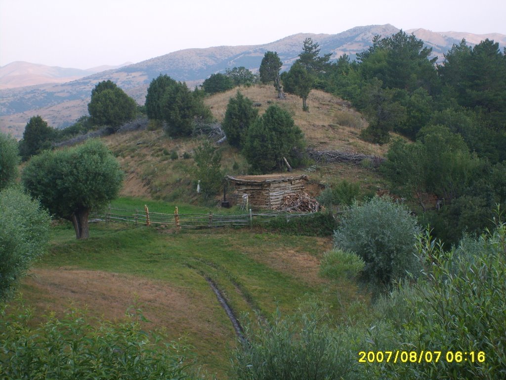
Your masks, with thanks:
M 157 212 L 173 212 L 172 204 L 159 201 L 121 198 L 113 204 L 134 207 L 139 203 Z M 203 211 L 196 206 L 179 207 L 180 212 Z M 35 271 L 74 270 L 76 276 L 105 272 L 116 277 L 128 276 L 134 284 L 150 281 L 167 287 L 167 291 L 172 289 L 183 294 L 192 308 L 196 308 L 192 312 L 178 310 L 184 305 L 158 310 L 154 302 L 148 303 L 148 318 L 154 320 L 154 325 L 166 328 L 173 338 L 187 334 L 198 362 L 209 373 L 226 378 L 228 349 L 237 339 L 205 277 L 218 285 L 238 316 L 252 314 L 254 309 L 269 316 L 276 307 L 283 313 L 293 313 L 303 300 L 317 297 L 329 302 L 338 320 L 343 317 L 343 303 L 362 296 L 353 284 L 333 284 L 317 276 L 319 259 L 330 245 L 328 238 L 280 236 L 260 229 L 175 232 L 174 229 L 105 222 L 92 223 L 90 238 L 77 241 L 71 225 L 62 223 L 54 226 L 51 248 L 36 263 Z M 40 277 L 38 281 L 44 282 L 44 276 Z M 71 285 L 65 286 L 70 288 Z M 39 308 L 37 313 L 44 312 L 41 307 L 58 309 L 71 305 L 72 292 L 77 298 L 80 291 L 72 288 L 65 293 L 70 294 L 70 299 L 61 299 L 57 291 L 43 295 L 37 286 L 27 280 L 21 288 L 25 302 Z M 134 299 L 136 286 L 127 290 Z M 342 299 L 336 297 L 338 291 Z M 137 296 L 142 304 L 142 294 Z M 93 297 L 87 302 L 96 315 L 107 314 L 107 307 L 95 302 Z

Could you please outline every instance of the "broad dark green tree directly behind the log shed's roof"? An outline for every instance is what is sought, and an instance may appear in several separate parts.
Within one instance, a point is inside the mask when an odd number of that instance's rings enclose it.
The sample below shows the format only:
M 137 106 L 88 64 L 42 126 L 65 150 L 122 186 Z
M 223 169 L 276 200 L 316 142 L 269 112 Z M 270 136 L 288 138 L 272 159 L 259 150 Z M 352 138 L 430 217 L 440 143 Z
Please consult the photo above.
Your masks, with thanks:
M 297 167 L 302 163 L 303 134 L 290 113 L 271 105 L 248 130 L 244 155 L 255 172 L 282 170 L 284 160 Z

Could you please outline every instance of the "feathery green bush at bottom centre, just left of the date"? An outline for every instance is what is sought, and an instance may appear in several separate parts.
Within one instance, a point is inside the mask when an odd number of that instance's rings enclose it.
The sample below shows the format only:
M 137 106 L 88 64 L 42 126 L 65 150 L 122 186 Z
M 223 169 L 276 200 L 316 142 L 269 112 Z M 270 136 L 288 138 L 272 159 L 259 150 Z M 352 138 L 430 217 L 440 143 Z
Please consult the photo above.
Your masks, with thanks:
M 231 378 L 238 380 L 319 380 L 348 378 L 356 362 L 341 335 L 322 323 L 318 310 L 253 324 L 233 353 Z

